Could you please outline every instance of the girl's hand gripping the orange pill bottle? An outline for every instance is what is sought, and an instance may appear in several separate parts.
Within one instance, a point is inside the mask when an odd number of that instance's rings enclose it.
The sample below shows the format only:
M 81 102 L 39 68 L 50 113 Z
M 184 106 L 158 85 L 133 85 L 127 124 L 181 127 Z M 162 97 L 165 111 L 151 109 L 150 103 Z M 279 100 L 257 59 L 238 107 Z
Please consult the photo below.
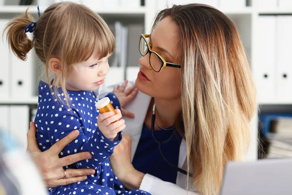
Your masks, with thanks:
M 100 114 L 97 117 L 97 124 L 99 130 L 103 133 L 105 137 L 107 137 L 111 141 L 115 137 L 117 137 L 117 133 L 126 128 L 125 120 L 120 119 L 122 117 L 121 111 L 119 109 L 116 109 L 115 111 L 117 112 L 116 115 L 114 115 L 113 112 L 107 112 Z

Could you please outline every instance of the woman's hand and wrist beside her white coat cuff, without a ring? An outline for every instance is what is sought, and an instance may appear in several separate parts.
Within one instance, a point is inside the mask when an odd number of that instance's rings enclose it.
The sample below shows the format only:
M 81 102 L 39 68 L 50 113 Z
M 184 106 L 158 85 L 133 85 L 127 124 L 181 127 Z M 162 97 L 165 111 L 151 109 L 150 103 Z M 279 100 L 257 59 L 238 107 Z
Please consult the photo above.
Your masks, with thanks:
M 114 148 L 113 155 L 110 156 L 113 173 L 129 190 L 139 189 L 140 182 L 145 176 L 144 173 L 137 171 L 131 163 L 131 144 L 131 137 L 123 133 L 122 141 Z

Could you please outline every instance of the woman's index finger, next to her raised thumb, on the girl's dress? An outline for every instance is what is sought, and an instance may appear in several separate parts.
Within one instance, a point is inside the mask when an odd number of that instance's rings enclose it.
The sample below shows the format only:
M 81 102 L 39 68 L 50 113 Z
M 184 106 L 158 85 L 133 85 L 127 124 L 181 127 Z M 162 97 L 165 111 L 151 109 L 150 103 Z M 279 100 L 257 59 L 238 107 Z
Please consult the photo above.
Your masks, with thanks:
M 55 142 L 55 144 L 48 149 L 48 153 L 51 153 L 53 155 L 58 155 L 69 143 L 71 143 L 76 137 L 78 137 L 79 131 L 74 130 L 70 134 L 68 134 L 66 137 L 63 137 L 59 141 Z

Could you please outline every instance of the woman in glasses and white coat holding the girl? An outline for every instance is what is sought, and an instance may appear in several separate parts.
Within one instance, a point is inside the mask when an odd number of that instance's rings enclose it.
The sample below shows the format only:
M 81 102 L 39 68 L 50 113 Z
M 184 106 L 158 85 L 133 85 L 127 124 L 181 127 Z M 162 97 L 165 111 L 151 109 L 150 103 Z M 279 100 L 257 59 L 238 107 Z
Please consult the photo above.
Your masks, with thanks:
M 140 53 L 135 82 L 140 92 L 126 107 L 135 114 L 126 119 L 132 141 L 126 137 L 115 148 L 110 158 L 115 175 L 129 189 L 140 186 L 153 195 L 186 194 L 184 189 L 219 194 L 226 162 L 247 152 L 256 111 L 235 24 L 211 6 L 174 5 L 159 12 L 150 36 L 141 36 Z M 113 89 L 118 98 L 121 88 Z M 149 138 L 152 124 L 158 142 L 169 139 L 161 144 L 165 159 Z

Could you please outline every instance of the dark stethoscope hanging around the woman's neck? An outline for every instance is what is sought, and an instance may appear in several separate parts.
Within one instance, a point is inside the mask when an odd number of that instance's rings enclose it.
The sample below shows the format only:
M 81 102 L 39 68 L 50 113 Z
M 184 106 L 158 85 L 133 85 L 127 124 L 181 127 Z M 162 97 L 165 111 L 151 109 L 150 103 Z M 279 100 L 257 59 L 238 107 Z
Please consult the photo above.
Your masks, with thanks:
M 154 103 L 154 105 L 153 105 L 153 113 L 152 113 L 152 120 L 151 120 L 151 132 L 152 132 L 152 137 L 153 137 L 154 141 L 158 144 L 158 149 L 159 149 L 160 155 L 162 156 L 162 158 L 164 159 L 164 161 L 169 166 L 175 168 L 177 171 L 181 172 L 182 174 L 187 175 L 187 172 L 185 170 L 183 170 L 183 169 L 179 168 L 178 166 L 175 166 L 174 164 L 172 164 L 171 162 L 169 162 L 165 158 L 165 156 L 162 154 L 161 144 L 168 143 L 171 140 L 171 138 L 174 137 L 176 131 L 173 131 L 172 135 L 168 139 L 166 139 L 164 141 L 158 141 L 157 138 L 156 138 L 156 136 L 155 136 L 155 134 L 154 134 L 155 117 L 156 117 L 156 114 L 155 114 L 155 103 Z M 173 129 L 173 127 L 170 127 L 168 129 L 163 129 L 163 128 L 159 127 L 159 126 L 158 126 L 158 128 L 161 129 L 161 130 L 171 130 L 171 129 Z M 189 176 L 192 176 L 192 174 L 189 173 Z

